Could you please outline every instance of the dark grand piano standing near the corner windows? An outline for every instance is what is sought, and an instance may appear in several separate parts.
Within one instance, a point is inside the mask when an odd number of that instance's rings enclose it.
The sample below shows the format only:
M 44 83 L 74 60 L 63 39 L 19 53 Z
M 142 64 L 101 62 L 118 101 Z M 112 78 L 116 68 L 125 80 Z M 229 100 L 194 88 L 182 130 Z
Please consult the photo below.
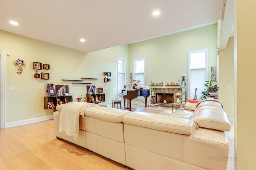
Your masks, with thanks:
M 126 103 L 126 99 L 129 100 L 129 106 L 127 104 L 128 109 L 131 111 L 132 100 L 137 98 L 138 96 L 144 96 L 145 98 L 145 107 L 147 107 L 147 98 L 149 96 L 149 89 L 141 89 L 141 90 L 122 90 L 122 93 L 118 94 L 120 98 L 124 99 L 124 107 Z

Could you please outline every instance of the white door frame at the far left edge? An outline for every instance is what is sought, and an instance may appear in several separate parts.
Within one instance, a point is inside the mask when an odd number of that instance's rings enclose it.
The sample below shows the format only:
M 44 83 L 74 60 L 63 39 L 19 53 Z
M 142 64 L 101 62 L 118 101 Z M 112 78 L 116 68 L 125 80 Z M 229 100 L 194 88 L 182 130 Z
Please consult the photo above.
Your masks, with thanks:
M 5 128 L 5 116 L 6 116 L 6 53 L 5 51 L 0 51 L 0 129 Z

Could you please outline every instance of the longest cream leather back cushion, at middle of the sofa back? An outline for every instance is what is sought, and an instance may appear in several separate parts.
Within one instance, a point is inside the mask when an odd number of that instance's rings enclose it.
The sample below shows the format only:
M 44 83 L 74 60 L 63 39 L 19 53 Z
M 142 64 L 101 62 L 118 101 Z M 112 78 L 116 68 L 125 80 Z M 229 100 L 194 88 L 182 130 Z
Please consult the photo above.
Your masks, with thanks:
M 134 111 L 124 115 L 123 122 L 160 131 L 190 135 L 195 129 L 193 121 L 170 115 Z

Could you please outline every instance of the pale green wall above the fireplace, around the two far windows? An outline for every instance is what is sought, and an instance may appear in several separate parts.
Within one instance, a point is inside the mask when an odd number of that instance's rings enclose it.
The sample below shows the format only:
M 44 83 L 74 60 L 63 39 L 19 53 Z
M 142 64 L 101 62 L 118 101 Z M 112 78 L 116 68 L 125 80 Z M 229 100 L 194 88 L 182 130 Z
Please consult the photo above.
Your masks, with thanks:
M 134 43 L 129 45 L 130 72 L 133 72 L 134 59 L 145 58 L 146 85 L 150 85 L 151 80 L 164 84 L 178 82 L 180 74 L 188 73 L 188 51 L 208 48 L 210 79 L 211 67 L 215 66 L 218 74 L 216 44 L 217 24 Z M 197 95 L 200 97 L 201 92 Z

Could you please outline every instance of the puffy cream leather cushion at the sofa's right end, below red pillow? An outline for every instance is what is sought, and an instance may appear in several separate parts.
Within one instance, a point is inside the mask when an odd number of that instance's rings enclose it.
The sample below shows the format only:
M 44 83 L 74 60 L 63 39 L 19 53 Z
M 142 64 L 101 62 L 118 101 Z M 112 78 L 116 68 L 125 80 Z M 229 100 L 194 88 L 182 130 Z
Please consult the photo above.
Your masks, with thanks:
M 198 127 L 215 129 L 218 131 L 230 131 L 231 125 L 225 111 L 220 109 L 202 109 L 197 111 L 192 120 Z

